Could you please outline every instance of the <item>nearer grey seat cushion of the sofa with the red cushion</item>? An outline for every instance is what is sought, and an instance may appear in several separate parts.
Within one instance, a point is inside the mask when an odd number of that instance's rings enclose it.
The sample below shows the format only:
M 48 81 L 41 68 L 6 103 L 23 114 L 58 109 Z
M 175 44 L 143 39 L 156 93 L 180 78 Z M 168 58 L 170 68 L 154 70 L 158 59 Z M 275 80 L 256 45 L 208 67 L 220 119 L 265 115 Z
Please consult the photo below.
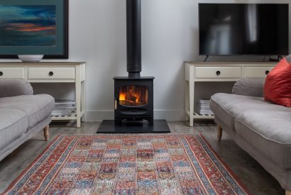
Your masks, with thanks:
M 246 111 L 235 121 L 237 136 L 282 169 L 291 169 L 291 112 Z

